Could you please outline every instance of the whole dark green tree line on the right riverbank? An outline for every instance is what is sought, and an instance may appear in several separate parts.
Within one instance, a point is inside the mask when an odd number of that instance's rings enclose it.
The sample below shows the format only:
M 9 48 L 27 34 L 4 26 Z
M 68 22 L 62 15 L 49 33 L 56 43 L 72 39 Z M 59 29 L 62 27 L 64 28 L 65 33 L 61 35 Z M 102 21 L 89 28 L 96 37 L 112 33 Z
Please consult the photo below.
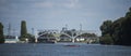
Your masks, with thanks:
M 123 17 L 105 20 L 99 29 L 102 44 L 131 45 L 131 8 Z

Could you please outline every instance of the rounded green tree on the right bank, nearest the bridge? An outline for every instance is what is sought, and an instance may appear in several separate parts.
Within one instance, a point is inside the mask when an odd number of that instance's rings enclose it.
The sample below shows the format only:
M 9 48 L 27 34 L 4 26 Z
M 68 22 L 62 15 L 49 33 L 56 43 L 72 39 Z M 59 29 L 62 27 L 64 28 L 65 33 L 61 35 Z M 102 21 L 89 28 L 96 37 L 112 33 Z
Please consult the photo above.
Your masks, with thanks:
M 100 26 L 102 30 L 102 38 L 99 38 L 99 42 L 102 44 L 112 44 L 112 29 L 111 29 L 112 22 L 105 20 Z

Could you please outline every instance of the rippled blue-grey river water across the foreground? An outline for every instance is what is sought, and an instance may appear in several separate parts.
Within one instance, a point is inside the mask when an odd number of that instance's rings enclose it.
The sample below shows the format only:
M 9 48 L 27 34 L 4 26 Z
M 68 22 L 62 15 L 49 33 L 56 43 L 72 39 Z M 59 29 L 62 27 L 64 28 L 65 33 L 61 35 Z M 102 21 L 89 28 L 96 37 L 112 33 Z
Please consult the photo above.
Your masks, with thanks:
M 0 44 L 0 56 L 131 56 L 131 46 L 84 43 Z

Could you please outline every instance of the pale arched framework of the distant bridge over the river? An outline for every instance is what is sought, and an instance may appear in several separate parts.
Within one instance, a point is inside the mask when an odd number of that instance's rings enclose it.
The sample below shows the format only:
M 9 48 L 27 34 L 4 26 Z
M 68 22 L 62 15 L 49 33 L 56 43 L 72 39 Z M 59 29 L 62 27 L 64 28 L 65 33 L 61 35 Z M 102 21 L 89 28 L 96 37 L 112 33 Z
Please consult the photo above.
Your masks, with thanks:
M 75 42 L 75 40 L 79 40 L 79 39 L 87 39 L 90 40 L 88 42 L 91 42 L 91 40 L 95 40 L 96 38 L 84 38 L 84 37 L 79 37 L 81 34 L 84 34 L 84 33 L 93 33 L 94 31 L 90 31 L 90 30 L 74 30 L 74 31 L 71 31 L 70 30 L 70 34 L 67 33 L 66 31 L 59 31 L 59 30 L 56 30 L 56 29 L 51 29 L 51 30 L 38 30 L 37 32 L 37 37 L 36 37 L 36 40 L 38 39 L 51 39 L 51 40 L 55 40 L 55 39 L 71 39 L 71 42 Z M 53 34 L 53 37 L 49 37 L 49 38 L 44 38 L 43 36 L 44 34 L 47 34 L 47 33 L 51 33 Z M 67 36 L 68 38 L 62 38 L 60 37 L 61 34 L 64 34 Z

